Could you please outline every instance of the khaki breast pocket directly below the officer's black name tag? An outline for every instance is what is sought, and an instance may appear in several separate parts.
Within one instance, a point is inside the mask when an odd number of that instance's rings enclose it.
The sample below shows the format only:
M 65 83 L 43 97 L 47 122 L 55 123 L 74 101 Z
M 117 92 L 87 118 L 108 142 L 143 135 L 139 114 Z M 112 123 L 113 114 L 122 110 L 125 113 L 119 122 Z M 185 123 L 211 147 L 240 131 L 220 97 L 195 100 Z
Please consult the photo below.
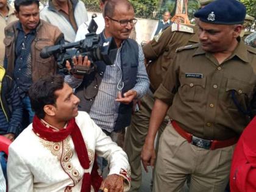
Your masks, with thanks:
M 206 78 L 186 77 L 182 74 L 180 77 L 179 95 L 185 102 L 200 102 L 205 100 Z

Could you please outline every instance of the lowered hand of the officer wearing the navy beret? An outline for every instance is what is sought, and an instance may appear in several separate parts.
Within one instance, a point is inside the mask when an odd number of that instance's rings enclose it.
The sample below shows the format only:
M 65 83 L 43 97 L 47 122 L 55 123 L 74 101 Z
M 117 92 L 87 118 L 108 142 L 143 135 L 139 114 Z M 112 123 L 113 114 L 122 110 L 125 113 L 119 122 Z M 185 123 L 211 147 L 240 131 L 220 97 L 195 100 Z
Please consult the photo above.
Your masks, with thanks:
M 154 144 L 148 144 L 145 142 L 141 150 L 140 158 L 146 172 L 148 172 L 147 166 L 151 166 L 152 168 L 154 168 L 154 163 L 155 163 Z

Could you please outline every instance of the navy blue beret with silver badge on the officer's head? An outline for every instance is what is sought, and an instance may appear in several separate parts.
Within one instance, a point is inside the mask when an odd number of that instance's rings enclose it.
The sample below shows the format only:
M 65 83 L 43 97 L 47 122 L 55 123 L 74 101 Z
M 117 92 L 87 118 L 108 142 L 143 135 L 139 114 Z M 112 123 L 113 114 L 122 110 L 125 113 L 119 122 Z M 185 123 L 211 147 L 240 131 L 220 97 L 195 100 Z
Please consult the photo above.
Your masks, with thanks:
M 236 0 L 216 0 L 194 13 L 196 18 L 212 24 L 243 24 L 246 8 Z

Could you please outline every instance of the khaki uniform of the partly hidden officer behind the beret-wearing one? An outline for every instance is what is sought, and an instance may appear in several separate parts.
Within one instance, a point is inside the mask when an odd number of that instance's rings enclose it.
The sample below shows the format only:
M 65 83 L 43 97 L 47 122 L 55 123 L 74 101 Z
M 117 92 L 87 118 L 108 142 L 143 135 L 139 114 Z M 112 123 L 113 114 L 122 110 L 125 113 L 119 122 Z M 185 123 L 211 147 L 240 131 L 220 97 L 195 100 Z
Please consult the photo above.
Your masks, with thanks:
M 196 32 L 197 27 L 174 23 L 143 46 L 146 60 L 151 60 L 147 66 L 151 90 L 141 99 L 140 110 L 132 115 L 132 122 L 127 129 L 124 141 L 124 151 L 129 157 L 132 171 L 130 191 L 138 191 L 141 185 L 140 153 L 148 133 L 149 119 L 154 105 L 152 92 L 158 88 L 168 67 L 172 65 L 176 49 L 199 41 Z M 167 123 L 166 118 L 160 127 L 160 132 L 165 129 Z

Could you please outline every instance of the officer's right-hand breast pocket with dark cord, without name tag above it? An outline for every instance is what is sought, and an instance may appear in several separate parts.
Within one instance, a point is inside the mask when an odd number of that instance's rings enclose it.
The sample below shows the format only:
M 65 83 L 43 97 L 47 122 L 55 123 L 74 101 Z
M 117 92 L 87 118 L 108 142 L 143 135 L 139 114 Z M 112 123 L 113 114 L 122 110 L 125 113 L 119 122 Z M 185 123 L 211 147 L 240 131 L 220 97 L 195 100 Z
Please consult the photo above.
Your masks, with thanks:
M 237 79 L 227 79 L 225 104 L 228 108 L 247 110 L 254 86 Z

